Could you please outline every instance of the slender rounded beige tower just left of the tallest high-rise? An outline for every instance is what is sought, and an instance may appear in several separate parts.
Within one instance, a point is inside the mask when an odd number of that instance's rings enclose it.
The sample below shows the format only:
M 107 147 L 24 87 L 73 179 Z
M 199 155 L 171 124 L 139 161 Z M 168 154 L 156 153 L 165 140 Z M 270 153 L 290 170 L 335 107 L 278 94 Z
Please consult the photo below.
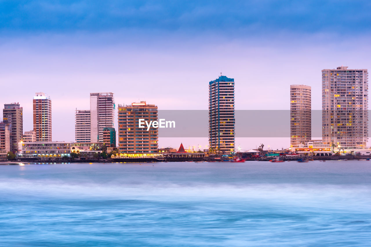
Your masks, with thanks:
M 312 138 L 311 87 L 290 85 L 291 147 L 306 144 Z

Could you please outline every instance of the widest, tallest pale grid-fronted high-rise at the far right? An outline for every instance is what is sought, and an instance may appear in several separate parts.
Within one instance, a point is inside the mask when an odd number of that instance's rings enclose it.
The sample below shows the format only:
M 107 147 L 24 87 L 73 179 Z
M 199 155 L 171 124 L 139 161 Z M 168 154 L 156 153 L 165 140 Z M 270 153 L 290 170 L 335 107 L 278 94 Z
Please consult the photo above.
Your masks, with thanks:
M 322 70 L 322 140 L 335 148 L 364 148 L 368 139 L 367 69 Z

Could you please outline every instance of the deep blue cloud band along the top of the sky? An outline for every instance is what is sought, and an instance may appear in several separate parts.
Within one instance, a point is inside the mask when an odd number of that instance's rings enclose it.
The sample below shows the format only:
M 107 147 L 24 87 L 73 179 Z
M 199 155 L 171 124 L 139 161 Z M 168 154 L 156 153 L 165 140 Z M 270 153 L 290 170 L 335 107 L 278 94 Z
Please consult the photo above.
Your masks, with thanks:
M 204 31 L 219 35 L 369 33 L 369 1 L 56 1 L 3 0 L 0 30 L 75 32 L 107 30 Z M 149 39 L 151 37 L 148 37 Z M 213 37 L 210 37 L 213 38 Z

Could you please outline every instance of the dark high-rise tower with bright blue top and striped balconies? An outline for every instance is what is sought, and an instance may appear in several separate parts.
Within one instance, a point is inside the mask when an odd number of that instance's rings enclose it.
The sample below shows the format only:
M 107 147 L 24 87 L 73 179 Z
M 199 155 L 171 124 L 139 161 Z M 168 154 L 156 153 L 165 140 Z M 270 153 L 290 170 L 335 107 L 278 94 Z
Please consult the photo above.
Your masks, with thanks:
M 234 79 L 209 82 L 209 149 L 234 152 Z

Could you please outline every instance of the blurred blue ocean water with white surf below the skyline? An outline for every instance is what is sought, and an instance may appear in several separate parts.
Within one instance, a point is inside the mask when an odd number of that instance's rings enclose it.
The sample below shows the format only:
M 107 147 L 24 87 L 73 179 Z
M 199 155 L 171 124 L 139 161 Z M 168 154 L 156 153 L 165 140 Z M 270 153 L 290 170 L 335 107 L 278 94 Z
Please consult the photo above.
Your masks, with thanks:
M 371 161 L 1 165 L 0 246 L 371 246 Z

